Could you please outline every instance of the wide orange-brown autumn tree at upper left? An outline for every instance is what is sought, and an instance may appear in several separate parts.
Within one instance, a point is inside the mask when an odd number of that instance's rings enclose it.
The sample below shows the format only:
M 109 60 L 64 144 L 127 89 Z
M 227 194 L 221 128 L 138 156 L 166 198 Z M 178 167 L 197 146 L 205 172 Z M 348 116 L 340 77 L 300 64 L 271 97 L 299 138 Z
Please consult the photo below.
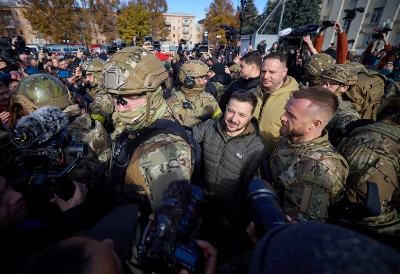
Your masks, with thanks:
M 23 16 L 39 37 L 51 36 L 54 42 L 91 40 L 87 16 L 78 0 L 21 0 Z

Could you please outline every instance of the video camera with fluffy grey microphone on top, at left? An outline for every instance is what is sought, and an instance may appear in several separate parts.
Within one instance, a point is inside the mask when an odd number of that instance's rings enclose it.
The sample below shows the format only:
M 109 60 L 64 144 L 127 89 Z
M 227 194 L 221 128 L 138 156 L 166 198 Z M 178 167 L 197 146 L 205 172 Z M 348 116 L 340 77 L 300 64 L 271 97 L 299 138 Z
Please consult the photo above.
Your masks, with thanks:
M 68 200 L 74 186 L 68 174 L 87 152 L 87 144 L 70 143 L 66 114 L 53 106 L 45 106 L 21 118 L 10 134 L 11 142 L 19 149 L 12 156 L 19 169 L 33 177 L 31 191 L 54 194 Z M 67 164 L 67 157 L 73 160 Z

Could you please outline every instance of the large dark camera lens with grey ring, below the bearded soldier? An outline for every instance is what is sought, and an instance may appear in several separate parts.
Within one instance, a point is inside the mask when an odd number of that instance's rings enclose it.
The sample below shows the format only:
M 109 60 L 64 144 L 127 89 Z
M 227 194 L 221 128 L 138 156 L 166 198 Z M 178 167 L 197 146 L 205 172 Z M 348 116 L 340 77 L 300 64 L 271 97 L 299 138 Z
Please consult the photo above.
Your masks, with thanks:
M 259 236 L 276 226 L 288 223 L 279 205 L 279 198 L 276 192 L 267 186 L 267 181 L 252 180 L 246 197 L 249 201 L 250 219 L 254 222 L 255 231 Z

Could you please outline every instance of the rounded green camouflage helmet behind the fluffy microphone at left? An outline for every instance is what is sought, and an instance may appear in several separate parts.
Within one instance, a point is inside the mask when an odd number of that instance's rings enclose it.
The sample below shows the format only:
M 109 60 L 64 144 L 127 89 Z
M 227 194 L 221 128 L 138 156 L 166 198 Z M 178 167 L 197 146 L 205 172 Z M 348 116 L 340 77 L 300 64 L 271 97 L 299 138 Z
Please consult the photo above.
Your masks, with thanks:
M 32 113 L 48 105 L 64 109 L 72 104 L 72 97 L 61 80 L 48 74 L 33 74 L 15 87 L 15 102 Z

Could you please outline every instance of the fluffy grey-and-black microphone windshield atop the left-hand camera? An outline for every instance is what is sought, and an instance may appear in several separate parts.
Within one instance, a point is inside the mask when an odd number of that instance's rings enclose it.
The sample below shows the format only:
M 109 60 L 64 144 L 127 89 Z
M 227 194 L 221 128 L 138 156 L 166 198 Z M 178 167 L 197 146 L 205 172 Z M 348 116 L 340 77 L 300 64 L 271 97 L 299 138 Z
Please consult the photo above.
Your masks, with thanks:
M 17 147 L 28 148 L 34 143 L 40 145 L 68 124 L 65 112 L 54 106 L 44 106 L 21 118 L 11 132 L 10 139 Z

